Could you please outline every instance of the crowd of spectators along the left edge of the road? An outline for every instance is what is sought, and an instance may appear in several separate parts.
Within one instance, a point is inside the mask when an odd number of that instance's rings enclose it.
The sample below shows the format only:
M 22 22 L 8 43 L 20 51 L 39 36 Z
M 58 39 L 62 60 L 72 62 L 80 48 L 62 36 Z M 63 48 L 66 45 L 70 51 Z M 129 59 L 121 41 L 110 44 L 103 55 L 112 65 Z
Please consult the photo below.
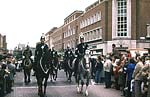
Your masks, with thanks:
M 13 91 L 16 66 L 11 54 L 0 55 L 0 96 Z

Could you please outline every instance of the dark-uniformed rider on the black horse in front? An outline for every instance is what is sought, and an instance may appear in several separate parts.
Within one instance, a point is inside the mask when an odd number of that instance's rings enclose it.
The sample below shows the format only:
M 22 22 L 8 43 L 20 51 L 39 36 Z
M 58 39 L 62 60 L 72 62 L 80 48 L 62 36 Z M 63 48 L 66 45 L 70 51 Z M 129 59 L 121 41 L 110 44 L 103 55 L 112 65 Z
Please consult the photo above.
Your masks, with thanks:
M 48 52 L 48 45 L 45 43 L 45 37 L 41 36 L 40 43 L 36 45 L 35 49 L 35 56 L 34 56 L 34 66 L 33 69 L 36 71 L 37 64 L 39 64 L 39 60 L 41 59 L 42 55 Z

